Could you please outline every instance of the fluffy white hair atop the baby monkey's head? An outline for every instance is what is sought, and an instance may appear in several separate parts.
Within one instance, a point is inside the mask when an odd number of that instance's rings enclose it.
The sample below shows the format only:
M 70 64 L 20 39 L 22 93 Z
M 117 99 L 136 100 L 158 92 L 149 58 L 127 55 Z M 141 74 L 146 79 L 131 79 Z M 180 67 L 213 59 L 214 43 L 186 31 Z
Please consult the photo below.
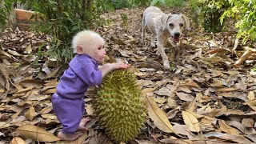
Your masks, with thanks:
M 92 30 L 82 30 L 72 40 L 73 52 L 77 53 L 77 47 L 82 46 L 82 49 L 88 53 L 91 46 L 95 45 L 95 42 L 98 42 L 98 40 L 105 42 L 100 34 Z

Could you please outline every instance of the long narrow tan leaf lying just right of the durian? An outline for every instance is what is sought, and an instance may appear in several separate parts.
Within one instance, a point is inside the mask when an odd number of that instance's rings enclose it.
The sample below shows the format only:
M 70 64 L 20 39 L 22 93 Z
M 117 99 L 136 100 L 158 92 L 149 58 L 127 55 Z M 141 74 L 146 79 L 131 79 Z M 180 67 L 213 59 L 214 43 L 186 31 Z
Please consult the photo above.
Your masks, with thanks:
M 166 133 L 174 133 L 174 128 L 171 126 L 166 113 L 158 107 L 154 99 L 147 96 L 147 109 L 150 118 L 154 121 L 154 125 Z

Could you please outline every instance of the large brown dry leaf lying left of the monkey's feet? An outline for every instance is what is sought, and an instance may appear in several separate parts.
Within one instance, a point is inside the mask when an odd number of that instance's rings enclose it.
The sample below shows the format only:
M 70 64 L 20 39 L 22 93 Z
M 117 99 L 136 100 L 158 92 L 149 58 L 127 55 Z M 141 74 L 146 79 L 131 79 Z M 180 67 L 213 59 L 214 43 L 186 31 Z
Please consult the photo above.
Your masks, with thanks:
M 16 131 L 20 136 L 24 138 L 30 138 L 34 141 L 55 142 L 60 140 L 54 134 L 51 134 L 50 132 L 38 126 L 23 125 L 23 126 L 19 126 L 16 129 Z

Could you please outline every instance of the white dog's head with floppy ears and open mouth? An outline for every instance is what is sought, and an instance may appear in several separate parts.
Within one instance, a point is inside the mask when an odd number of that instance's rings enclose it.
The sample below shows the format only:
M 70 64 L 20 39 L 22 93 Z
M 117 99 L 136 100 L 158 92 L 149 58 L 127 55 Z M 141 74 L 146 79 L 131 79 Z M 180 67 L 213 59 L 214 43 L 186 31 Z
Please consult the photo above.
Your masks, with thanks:
M 165 14 L 162 16 L 162 26 L 164 30 L 170 33 L 172 40 L 177 43 L 182 37 L 182 30 L 186 25 L 186 29 L 190 30 L 190 21 L 183 14 Z

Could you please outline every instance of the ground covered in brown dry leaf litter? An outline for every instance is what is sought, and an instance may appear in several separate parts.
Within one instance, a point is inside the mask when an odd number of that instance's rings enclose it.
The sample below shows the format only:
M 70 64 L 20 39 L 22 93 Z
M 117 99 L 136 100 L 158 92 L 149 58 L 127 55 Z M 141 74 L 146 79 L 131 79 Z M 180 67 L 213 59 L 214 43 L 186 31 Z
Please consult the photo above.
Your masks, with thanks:
M 129 143 L 253 143 L 256 142 L 254 42 L 242 44 L 234 32 L 208 34 L 191 20 L 184 32 L 179 61 L 176 49 L 166 49 L 172 69 L 162 66 L 156 48 L 139 43 L 144 9 L 105 14 L 110 25 L 97 31 L 106 39 L 107 61 L 131 64 L 148 102 L 149 118 L 138 138 Z M 187 10 L 165 10 L 188 14 Z M 127 16 L 127 17 L 126 17 Z M 188 15 L 189 16 L 189 15 Z M 61 129 L 50 96 L 62 66 L 41 51 L 50 36 L 7 29 L 0 49 L 0 143 L 55 143 Z M 95 89 L 86 92 L 90 130 L 74 142 L 113 143 L 95 124 L 90 104 Z M 159 112 L 160 111 L 160 112 Z M 62 142 L 60 142 L 62 143 Z

